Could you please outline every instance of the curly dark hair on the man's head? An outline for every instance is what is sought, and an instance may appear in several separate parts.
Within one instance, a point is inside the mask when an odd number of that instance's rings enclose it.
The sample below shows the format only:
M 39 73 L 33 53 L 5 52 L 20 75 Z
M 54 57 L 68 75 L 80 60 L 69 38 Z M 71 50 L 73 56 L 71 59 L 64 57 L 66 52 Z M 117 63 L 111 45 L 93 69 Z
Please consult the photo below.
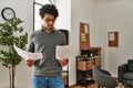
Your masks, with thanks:
M 59 16 L 58 9 L 54 4 L 44 4 L 40 9 L 40 16 L 41 18 L 44 18 L 45 13 L 53 15 L 55 19 L 57 19 L 57 16 Z

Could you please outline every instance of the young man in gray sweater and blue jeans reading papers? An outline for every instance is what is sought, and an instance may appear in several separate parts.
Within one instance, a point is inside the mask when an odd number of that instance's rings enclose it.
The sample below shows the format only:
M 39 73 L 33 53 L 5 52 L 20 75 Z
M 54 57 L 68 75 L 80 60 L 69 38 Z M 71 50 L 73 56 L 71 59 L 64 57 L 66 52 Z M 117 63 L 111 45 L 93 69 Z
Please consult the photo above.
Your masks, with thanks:
M 55 46 L 65 45 L 63 33 L 54 29 L 59 13 L 53 4 L 44 4 L 40 9 L 42 29 L 30 35 L 29 52 L 41 52 L 43 58 L 28 59 L 27 65 L 33 66 L 33 88 L 64 88 L 62 80 L 62 66 L 68 64 L 68 58 L 55 58 Z

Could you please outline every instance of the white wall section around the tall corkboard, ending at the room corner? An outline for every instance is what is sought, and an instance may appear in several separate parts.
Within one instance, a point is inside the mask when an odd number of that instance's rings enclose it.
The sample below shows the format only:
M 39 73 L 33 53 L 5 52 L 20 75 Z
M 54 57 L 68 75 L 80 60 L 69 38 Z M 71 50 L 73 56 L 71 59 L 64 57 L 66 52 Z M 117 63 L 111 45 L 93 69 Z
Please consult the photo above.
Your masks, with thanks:
M 104 21 L 101 20 L 104 16 L 104 7 L 103 11 L 99 9 L 98 4 L 92 0 L 72 0 L 71 1 L 71 32 L 70 32 L 70 43 L 76 44 L 76 52 L 73 54 L 70 66 L 72 74 L 70 74 L 70 84 L 75 84 L 75 56 L 80 55 L 79 41 L 80 41 L 80 22 L 88 23 L 90 25 L 90 44 L 91 46 L 101 46 L 102 54 L 105 46 L 105 29 Z M 99 11 L 100 10 L 100 11 Z M 104 56 L 103 56 L 104 57 Z M 104 59 L 104 58 L 102 58 Z

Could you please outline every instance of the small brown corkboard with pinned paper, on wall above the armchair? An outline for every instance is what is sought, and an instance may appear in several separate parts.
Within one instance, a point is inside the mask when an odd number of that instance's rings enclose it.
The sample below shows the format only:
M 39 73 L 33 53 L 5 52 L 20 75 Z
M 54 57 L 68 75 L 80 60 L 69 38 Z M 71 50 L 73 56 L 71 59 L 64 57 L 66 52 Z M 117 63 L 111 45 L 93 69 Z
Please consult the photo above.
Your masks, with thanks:
M 109 46 L 110 47 L 119 46 L 119 32 L 109 32 Z

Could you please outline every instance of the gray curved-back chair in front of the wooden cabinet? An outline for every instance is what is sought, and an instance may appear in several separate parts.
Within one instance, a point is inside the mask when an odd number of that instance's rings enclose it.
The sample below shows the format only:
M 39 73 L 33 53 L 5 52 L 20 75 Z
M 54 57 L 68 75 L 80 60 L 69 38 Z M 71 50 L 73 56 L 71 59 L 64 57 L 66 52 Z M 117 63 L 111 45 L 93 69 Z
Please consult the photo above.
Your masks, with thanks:
M 95 66 L 92 66 L 92 75 L 94 81 L 99 85 L 99 88 L 100 87 L 115 88 L 117 86 L 116 80 L 106 70 L 102 70 Z

